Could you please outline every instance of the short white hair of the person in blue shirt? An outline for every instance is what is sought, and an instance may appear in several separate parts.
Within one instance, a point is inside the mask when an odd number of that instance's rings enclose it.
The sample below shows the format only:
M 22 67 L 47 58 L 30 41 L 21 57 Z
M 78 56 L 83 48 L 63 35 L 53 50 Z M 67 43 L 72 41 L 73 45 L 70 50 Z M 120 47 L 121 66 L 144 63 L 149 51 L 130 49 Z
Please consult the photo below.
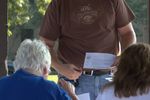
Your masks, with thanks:
M 48 47 L 41 40 L 24 40 L 18 48 L 14 61 L 15 71 L 31 68 L 35 71 L 50 68 L 51 56 Z

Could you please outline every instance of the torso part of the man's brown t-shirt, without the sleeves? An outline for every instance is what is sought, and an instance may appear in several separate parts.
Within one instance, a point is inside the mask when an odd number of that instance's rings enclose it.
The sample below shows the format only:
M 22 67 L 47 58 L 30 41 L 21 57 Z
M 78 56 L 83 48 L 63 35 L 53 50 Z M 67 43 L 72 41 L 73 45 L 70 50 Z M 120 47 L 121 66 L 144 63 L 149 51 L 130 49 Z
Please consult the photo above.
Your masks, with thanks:
M 83 66 L 86 52 L 116 54 L 118 33 L 111 0 L 62 0 L 60 58 Z

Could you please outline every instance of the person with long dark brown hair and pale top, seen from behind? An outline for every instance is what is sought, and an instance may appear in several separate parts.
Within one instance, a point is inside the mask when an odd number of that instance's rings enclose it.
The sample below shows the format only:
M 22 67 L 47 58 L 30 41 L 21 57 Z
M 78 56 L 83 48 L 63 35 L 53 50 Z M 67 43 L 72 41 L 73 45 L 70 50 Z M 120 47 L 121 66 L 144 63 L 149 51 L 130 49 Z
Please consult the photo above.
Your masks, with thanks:
M 150 45 L 134 44 L 122 54 L 113 82 L 96 100 L 150 99 Z

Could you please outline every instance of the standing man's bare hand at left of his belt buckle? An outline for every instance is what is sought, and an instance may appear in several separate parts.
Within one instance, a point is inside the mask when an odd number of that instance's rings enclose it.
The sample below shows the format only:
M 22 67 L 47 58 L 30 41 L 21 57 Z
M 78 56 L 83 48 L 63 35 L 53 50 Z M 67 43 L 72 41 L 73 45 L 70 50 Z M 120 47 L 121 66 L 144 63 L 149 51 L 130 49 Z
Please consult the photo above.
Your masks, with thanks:
M 58 72 L 70 80 L 78 79 L 82 74 L 82 69 L 73 64 L 61 64 L 61 67 Z

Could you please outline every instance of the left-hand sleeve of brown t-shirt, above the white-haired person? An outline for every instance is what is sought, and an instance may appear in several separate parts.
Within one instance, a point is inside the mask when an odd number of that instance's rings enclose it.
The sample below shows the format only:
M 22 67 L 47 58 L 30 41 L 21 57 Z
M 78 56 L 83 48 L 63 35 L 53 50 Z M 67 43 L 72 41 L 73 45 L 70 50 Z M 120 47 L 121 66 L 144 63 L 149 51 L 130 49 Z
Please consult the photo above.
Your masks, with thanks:
M 60 0 L 51 1 L 46 10 L 42 26 L 40 29 L 39 35 L 49 40 L 56 40 L 60 35 L 59 1 Z

